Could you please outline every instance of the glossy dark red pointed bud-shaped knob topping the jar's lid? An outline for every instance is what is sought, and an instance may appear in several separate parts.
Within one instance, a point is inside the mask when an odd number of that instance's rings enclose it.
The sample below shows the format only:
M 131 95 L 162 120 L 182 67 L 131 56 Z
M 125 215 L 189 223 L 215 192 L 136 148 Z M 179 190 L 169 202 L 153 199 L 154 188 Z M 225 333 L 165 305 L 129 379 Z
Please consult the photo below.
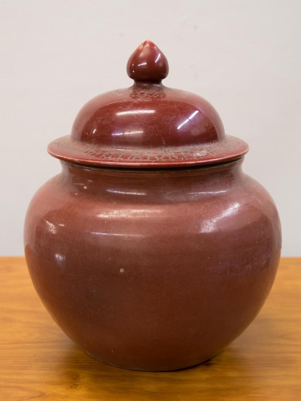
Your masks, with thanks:
M 145 41 L 128 59 L 126 72 L 134 81 L 160 82 L 168 75 L 168 61 L 151 41 Z

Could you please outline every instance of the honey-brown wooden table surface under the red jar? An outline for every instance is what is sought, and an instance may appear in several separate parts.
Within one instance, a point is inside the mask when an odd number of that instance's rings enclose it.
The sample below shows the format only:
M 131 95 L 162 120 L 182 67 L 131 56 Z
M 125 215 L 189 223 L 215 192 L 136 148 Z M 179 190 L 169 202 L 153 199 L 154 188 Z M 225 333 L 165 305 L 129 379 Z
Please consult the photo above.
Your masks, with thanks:
M 193 368 L 134 372 L 85 354 L 56 326 L 22 257 L 0 258 L 0 400 L 301 400 L 301 258 L 283 258 L 259 316 Z

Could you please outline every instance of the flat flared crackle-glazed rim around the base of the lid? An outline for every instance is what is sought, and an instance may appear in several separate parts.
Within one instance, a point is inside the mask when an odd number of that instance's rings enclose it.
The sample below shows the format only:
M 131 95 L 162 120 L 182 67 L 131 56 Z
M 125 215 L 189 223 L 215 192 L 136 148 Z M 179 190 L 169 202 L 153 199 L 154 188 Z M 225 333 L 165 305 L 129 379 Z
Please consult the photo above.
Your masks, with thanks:
M 220 164 L 244 156 L 249 146 L 243 140 L 226 135 L 223 140 L 199 145 L 169 148 L 122 148 L 100 146 L 58 138 L 48 145 L 48 153 L 60 160 L 87 166 L 118 168 L 176 168 Z

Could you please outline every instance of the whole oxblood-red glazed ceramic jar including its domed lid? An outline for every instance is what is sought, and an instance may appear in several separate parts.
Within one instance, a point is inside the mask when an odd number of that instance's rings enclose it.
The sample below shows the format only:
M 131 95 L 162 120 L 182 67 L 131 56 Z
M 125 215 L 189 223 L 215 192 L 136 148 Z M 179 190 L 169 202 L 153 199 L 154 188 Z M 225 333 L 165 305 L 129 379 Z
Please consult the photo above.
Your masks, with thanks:
M 242 171 L 248 146 L 215 109 L 170 89 L 150 41 L 134 84 L 99 95 L 48 152 L 62 172 L 34 195 L 25 254 L 42 302 L 88 354 L 166 371 L 211 358 L 252 322 L 277 271 L 281 229 Z

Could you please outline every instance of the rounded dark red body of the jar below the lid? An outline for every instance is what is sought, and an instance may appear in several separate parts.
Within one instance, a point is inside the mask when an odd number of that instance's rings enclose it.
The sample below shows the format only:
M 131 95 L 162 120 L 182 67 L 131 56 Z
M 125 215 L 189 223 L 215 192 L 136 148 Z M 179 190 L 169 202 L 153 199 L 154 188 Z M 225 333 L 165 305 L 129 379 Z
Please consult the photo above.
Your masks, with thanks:
M 110 365 L 164 371 L 214 356 L 263 305 L 281 229 L 242 160 L 122 170 L 62 162 L 35 194 L 24 244 L 58 325 Z

